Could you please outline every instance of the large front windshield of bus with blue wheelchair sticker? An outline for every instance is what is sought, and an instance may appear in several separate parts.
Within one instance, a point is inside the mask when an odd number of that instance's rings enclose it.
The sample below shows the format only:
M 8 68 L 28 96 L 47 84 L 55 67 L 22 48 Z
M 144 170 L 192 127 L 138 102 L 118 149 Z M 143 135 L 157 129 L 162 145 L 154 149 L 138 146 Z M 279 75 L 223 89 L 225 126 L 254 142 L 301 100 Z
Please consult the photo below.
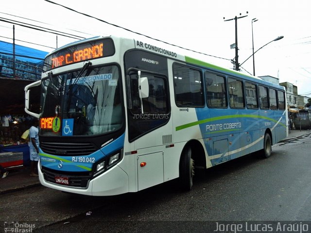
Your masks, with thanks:
M 41 87 L 41 135 L 97 135 L 123 124 L 117 66 L 50 74 Z

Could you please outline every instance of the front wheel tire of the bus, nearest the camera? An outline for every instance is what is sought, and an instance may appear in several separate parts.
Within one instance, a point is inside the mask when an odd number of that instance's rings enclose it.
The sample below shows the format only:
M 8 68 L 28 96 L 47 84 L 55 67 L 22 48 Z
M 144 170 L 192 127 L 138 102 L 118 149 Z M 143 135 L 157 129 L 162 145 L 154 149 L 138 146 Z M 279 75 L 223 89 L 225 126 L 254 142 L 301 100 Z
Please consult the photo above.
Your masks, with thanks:
M 193 185 L 194 176 L 194 160 L 192 159 L 192 151 L 190 147 L 186 147 L 180 158 L 179 179 L 180 186 L 183 190 L 190 191 Z

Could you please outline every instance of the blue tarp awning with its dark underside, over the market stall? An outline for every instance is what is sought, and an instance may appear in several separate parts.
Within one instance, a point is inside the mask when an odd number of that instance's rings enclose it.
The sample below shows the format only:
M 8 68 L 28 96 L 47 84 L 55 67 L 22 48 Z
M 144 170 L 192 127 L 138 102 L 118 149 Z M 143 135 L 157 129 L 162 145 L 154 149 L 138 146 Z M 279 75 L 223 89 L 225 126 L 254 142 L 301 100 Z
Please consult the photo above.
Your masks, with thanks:
M 24 113 L 24 87 L 41 79 L 47 54 L 46 51 L 15 45 L 13 70 L 13 44 L 0 41 L 0 114 Z M 39 92 L 36 99 L 40 101 Z

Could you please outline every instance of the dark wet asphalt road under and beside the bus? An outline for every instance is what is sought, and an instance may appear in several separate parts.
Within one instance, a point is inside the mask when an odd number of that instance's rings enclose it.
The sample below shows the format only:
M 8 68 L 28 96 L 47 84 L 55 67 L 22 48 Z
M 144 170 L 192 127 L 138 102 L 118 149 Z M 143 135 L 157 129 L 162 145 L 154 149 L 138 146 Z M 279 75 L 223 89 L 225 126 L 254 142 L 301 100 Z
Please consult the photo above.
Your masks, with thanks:
M 274 145 L 268 159 L 251 154 L 210 168 L 190 192 L 172 181 L 113 197 L 45 187 L 4 194 L 1 220 L 29 221 L 40 233 L 213 232 L 209 221 L 310 221 L 310 142 L 306 135 Z

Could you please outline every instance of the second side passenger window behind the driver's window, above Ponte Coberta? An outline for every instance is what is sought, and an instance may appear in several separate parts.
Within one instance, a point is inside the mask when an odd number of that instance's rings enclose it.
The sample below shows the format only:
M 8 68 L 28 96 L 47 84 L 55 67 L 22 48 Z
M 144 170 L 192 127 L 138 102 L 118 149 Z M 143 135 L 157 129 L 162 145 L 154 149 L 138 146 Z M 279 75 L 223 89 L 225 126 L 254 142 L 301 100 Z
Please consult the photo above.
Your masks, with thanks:
M 205 86 L 208 107 L 226 108 L 228 106 L 225 77 L 206 71 Z

